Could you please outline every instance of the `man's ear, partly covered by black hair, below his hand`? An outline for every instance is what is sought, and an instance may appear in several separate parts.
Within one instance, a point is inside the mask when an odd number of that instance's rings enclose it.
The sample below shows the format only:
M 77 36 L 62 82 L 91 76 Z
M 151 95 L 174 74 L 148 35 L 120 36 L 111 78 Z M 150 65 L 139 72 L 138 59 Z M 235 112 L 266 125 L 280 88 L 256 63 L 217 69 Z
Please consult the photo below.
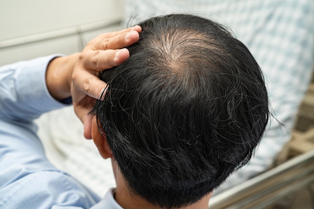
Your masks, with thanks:
M 98 130 L 96 116 L 93 116 L 93 120 L 92 120 L 92 138 L 100 155 L 104 159 L 107 159 L 108 157 L 112 157 L 112 152 L 107 143 L 105 132 L 102 131 L 102 133 L 100 133 Z

